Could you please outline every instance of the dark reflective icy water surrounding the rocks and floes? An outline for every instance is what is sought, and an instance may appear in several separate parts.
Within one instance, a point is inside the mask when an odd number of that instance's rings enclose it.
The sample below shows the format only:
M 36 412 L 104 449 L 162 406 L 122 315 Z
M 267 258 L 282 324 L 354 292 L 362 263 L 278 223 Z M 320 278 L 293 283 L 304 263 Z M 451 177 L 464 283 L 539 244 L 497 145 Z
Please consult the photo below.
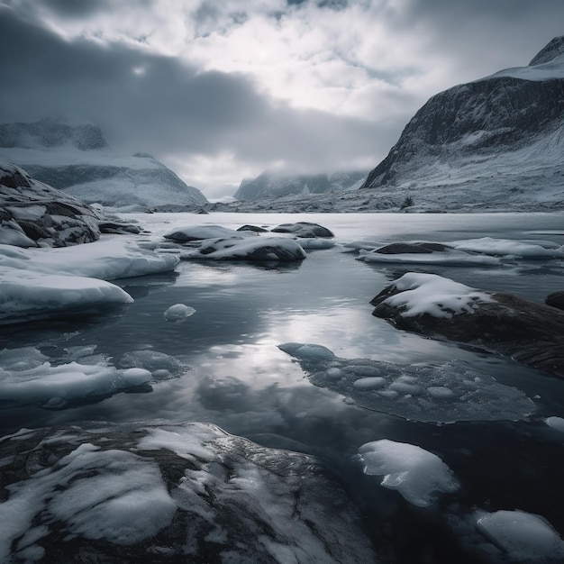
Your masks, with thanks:
M 136 393 L 99 397 L 59 410 L 5 406 L 0 412 L 2 434 L 45 425 L 200 421 L 264 446 L 311 453 L 341 478 L 365 514 L 376 545 L 383 547 L 382 554 L 386 547 L 394 547 L 389 550 L 394 558 L 384 556 L 383 561 L 498 561 L 495 555 L 488 559 L 486 549 L 473 551 L 486 542 L 472 524 L 478 510 L 538 514 L 564 537 L 564 433 L 545 422 L 550 416 L 564 417 L 564 382 L 509 359 L 397 331 L 372 316 L 368 303 L 406 271 L 432 272 L 470 287 L 543 301 L 564 289 L 562 261 L 405 267 L 360 262 L 342 246 L 359 240 L 458 241 L 485 236 L 561 245 L 563 214 L 124 217 L 141 223 L 151 232 L 151 240 L 190 224 L 236 229 L 243 224 L 274 227 L 309 221 L 331 229 L 337 244 L 307 251 L 307 259 L 299 264 L 182 261 L 174 273 L 118 280 L 135 299 L 119 311 L 4 326 L 0 350 L 34 346 L 56 360 L 73 351 L 84 356 L 82 348 L 90 347 L 101 355 L 98 359 L 116 366 L 145 362 L 154 379 Z M 166 321 L 164 312 L 179 303 L 196 313 L 184 323 Z M 516 410 L 507 419 L 484 421 L 477 406 L 473 420 L 472 406 L 465 405 L 465 421 L 445 423 L 433 422 L 432 414 L 420 422 L 401 409 L 369 409 L 328 387 L 315 386 L 296 359 L 278 349 L 289 341 L 323 345 L 340 359 L 373 359 L 407 370 L 459 361 L 488 381 L 493 378 L 500 396 L 504 390 L 520 390 L 534 405 L 533 413 Z M 154 366 L 148 367 L 148 362 Z M 364 475 L 356 457 L 362 444 L 380 439 L 414 444 L 438 455 L 459 480 L 459 490 L 418 508 L 381 487 L 382 478 Z

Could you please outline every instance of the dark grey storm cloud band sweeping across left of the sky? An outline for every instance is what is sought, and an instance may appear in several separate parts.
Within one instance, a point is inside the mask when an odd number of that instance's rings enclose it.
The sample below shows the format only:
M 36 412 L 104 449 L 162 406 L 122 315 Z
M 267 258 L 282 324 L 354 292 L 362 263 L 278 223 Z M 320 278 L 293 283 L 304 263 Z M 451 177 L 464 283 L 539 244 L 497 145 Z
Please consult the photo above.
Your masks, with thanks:
M 0 67 L 0 122 L 87 120 L 130 151 L 228 150 L 247 162 L 319 169 L 367 147 L 386 150 L 373 123 L 273 105 L 249 77 L 201 72 L 123 44 L 64 41 L 2 9 Z

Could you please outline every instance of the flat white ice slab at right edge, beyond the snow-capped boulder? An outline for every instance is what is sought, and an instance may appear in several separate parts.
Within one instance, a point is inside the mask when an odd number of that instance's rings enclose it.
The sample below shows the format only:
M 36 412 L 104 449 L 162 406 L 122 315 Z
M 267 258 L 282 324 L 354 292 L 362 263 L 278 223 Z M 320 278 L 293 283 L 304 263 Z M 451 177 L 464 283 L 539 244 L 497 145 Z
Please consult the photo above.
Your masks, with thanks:
M 455 249 L 480 252 L 496 256 L 514 256 L 524 259 L 564 258 L 564 251 L 558 243 L 552 241 L 513 241 L 510 239 L 493 239 L 482 237 L 465 241 L 452 241 Z

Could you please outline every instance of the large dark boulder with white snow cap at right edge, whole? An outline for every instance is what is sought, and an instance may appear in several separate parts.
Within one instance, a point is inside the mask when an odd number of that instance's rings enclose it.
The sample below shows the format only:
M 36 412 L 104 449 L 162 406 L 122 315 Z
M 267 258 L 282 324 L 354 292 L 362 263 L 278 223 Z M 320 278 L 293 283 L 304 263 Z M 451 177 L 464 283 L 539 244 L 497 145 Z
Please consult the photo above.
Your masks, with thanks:
M 470 343 L 564 378 L 564 312 L 549 305 L 414 272 L 370 304 L 398 329 Z

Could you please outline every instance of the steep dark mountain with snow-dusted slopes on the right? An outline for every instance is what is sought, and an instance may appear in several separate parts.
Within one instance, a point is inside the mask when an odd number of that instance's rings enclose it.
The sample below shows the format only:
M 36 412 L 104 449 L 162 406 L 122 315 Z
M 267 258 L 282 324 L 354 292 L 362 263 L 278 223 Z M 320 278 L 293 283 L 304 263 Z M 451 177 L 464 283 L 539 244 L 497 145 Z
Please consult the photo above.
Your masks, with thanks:
M 363 188 L 442 206 L 564 204 L 564 37 L 527 67 L 432 98 Z M 368 192 L 368 190 L 367 190 Z

